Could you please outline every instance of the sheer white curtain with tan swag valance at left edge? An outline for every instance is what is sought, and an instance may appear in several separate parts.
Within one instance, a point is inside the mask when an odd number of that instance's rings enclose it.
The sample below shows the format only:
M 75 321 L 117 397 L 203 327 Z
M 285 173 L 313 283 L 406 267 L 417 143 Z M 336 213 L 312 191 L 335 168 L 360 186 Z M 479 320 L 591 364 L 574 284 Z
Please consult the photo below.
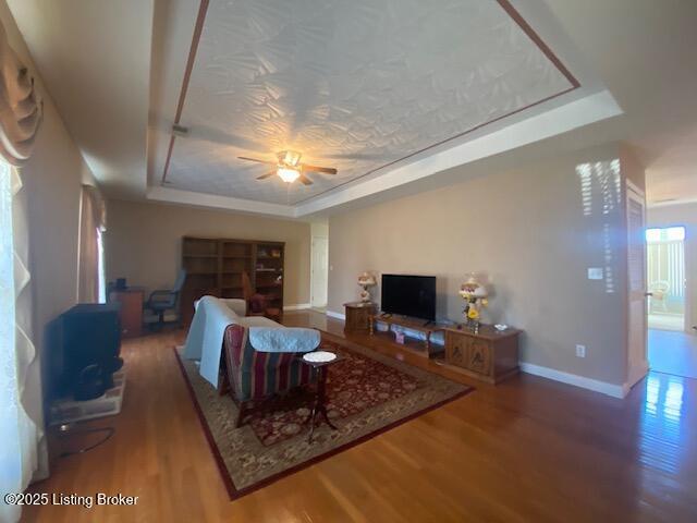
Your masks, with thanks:
M 34 78 L 0 24 L 0 522 L 20 519 L 4 494 L 24 490 L 37 466 L 47 469 L 40 384 L 32 343 L 25 195 L 12 166 L 32 156 L 42 105 Z

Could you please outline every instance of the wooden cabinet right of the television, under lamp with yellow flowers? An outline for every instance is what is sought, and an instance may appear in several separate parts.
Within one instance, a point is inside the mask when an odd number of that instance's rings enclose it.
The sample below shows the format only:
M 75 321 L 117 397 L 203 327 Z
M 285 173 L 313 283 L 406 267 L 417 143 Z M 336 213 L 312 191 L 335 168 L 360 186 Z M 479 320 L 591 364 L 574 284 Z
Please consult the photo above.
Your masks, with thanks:
M 498 384 L 518 372 L 519 333 L 517 329 L 498 332 L 488 325 L 478 333 L 445 329 L 445 363 L 469 377 Z

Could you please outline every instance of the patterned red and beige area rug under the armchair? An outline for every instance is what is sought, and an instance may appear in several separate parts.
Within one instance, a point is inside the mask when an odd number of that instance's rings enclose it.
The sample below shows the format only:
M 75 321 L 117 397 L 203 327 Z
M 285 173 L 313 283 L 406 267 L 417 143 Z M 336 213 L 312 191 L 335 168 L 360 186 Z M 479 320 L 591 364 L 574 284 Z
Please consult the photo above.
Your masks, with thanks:
M 339 339 L 337 339 L 339 340 Z M 342 360 L 328 368 L 326 424 L 308 441 L 311 390 L 258 405 L 235 428 L 237 406 L 219 396 L 195 362 L 175 354 L 231 499 L 249 494 L 474 390 L 345 340 L 329 350 Z

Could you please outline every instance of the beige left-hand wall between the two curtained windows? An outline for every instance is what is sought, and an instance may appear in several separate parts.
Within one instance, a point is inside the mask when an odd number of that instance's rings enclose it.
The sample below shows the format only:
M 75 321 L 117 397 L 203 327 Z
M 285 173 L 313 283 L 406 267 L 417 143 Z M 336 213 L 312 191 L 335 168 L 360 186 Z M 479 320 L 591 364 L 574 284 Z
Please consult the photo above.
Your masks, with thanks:
M 0 20 L 11 46 L 32 71 L 44 97 L 44 122 L 36 148 L 20 169 L 24 183 L 21 194 L 26 198 L 28 221 L 33 339 L 40 364 L 47 323 L 77 300 L 81 185 L 94 183 L 94 178 L 44 86 L 4 0 L 0 0 Z M 39 380 L 39 367 L 33 365 L 26 381 L 27 391 L 36 394 L 29 398 L 33 415 L 41 408 Z

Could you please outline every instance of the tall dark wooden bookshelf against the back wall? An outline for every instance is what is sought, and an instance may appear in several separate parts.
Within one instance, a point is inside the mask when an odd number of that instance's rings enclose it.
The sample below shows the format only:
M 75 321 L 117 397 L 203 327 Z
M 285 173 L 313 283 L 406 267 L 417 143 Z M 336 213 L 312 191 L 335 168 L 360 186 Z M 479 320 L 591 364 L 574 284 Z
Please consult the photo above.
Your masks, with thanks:
M 182 323 L 191 325 L 194 302 L 203 295 L 243 297 L 243 272 L 249 275 L 256 292 L 272 296 L 269 306 L 282 311 L 284 258 L 283 242 L 184 236 L 182 267 L 186 270 L 186 282 L 180 301 Z

